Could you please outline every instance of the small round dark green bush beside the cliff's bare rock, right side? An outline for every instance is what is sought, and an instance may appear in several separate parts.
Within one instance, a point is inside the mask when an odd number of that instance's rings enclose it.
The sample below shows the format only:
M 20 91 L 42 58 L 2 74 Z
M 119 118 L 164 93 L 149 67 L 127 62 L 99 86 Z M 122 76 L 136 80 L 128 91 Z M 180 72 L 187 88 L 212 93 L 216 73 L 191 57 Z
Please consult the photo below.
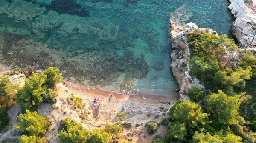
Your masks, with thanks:
M 201 87 L 192 87 L 189 90 L 188 95 L 192 101 L 198 102 L 198 100 L 201 100 L 204 98 L 204 90 Z

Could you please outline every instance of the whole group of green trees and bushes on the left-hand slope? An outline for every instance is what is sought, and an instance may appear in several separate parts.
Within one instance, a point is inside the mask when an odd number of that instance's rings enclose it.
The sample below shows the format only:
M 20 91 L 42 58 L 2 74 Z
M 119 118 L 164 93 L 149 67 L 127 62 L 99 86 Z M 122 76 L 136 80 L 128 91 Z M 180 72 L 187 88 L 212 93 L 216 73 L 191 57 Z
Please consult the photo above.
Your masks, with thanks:
M 23 87 L 17 83 L 10 83 L 7 75 L 1 76 L 0 129 L 9 123 L 6 109 L 18 102 L 22 105 L 24 113 L 18 115 L 18 123 L 15 127 L 25 134 L 20 137 L 19 143 L 46 143 L 46 139 L 38 135 L 44 135 L 49 130 L 50 122 L 38 115 L 35 110 L 41 102 L 56 102 L 58 93 L 53 88 L 62 81 L 57 67 L 47 67 L 41 74 L 32 73 L 32 76 L 25 80 Z

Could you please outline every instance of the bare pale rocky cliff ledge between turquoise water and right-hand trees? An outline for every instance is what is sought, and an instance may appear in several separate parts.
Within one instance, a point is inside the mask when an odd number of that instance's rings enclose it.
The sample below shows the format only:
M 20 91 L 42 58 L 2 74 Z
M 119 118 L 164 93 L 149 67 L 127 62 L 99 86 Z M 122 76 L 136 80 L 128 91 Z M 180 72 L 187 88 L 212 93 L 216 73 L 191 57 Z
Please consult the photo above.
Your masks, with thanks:
M 189 97 L 184 95 L 184 92 L 188 91 L 191 87 L 202 87 L 204 85 L 193 76 L 189 75 L 189 44 L 186 42 L 188 34 L 191 31 L 194 31 L 195 28 L 198 28 L 195 23 L 188 23 L 185 26 L 178 26 L 175 22 L 170 21 L 170 34 L 169 40 L 172 44 L 172 73 L 175 76 L 177 83 L 179 84 L 179 93 L 180 98 L 186 98 L 189 100 Z M 205 29 L 201 29 L 205 30 Z M 215 32 L 212 29 L 209 30 L 211 33 Z

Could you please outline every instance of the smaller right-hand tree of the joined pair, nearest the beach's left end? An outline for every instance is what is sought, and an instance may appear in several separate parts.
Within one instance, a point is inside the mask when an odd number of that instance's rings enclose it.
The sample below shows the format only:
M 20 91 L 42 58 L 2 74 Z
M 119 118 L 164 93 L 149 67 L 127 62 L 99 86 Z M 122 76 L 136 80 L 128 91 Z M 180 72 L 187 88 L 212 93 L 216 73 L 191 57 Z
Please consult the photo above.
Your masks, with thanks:
M 58 67 L 47 67 L 42 74 L 47 77 L 44 83 L 47 88 L 56 88 L 56 84 L 63 82 L 62 73 L 60 73 Z

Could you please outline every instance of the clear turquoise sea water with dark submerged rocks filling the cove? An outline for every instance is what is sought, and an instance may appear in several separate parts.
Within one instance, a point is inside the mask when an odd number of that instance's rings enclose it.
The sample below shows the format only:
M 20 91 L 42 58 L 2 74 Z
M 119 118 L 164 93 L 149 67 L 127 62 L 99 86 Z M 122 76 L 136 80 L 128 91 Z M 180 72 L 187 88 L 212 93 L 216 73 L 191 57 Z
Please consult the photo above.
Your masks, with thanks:
M 0 31 L 55 50 L 54 66 L 81 83 L 168 95 L 178 87 L 169 17 L 180 6 L 186 22 L 229 34 L 224 0 L 0 0 Z

